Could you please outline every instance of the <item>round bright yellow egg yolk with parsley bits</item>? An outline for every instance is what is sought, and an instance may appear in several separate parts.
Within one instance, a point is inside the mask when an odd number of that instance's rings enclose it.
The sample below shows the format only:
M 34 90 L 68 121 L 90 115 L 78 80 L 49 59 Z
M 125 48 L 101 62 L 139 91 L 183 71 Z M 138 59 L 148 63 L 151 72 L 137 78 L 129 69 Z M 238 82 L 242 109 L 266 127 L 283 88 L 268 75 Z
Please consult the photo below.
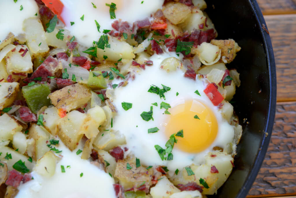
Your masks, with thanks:
M 178 149 L 197 153 L 209 147 L 216 138 L 218 123 L 213 111 L 197 100 L 185 100 L 168 109 L 170 115 L 165 126 L 165 134 L 169 138 L 173 133 L 183 130 L 184 137 L 176 137 L 174 145 Z

